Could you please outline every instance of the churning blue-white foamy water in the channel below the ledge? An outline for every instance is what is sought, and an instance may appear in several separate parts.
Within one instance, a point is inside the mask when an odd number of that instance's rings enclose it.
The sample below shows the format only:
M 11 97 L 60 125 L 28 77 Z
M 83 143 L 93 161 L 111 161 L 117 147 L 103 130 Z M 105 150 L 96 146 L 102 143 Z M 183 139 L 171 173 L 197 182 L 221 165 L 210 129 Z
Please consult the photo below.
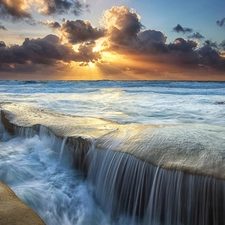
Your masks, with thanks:
M 59 161 L 49 139 L 35 135 L 0 142 L 0 180 L 48 225 L 109 224 L 81 174 L 68 160 Z

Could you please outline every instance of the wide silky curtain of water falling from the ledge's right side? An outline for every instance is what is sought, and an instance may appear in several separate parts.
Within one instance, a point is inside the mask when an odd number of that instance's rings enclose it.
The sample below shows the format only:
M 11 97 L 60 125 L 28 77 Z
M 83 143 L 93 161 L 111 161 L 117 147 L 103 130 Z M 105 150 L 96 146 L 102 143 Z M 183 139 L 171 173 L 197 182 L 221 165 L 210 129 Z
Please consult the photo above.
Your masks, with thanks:
M 88 180 L 102 208 L 118 220 L 154 225 L 223 225 L 225 182 L 156 168 L 120 152 L 90 151 Z

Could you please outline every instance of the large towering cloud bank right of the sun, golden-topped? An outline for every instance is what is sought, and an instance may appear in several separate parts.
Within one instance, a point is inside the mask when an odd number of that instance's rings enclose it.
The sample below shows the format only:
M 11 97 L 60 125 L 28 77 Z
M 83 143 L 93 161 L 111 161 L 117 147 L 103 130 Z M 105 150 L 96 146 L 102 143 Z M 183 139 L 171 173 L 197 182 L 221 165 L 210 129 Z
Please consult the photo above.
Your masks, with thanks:
M 221 57 L 214 48 L 215 43 L 209 40 L 205 45 L 210 49 L 198 49 L 196 40 L 177 38 L 174 42 L 167 44 L 167 36 L 162 31 L 144 30 L 140 22 L 140 16 L 127 7 L 112 7 L 103 14 L 102 20 L 106 32 L 106 40 L 103 43 L 105 51 L 113 51 L 123 55 L 124 58 L 133 60 L 135 64 L 148 66 L 131 66 L 129 71 L 135 74 L 160 71 L 162 68 L 174 68 L 177 71 L 189 69 L 218 68 Z M 191 33 L 190 28 L 183 28 L 179 24 L 175 28 L 179 33 Z M 203 39 L 204 37 L 195 32 L 189 38 Z M 150 66 L 151 64 L 151 66 Z M 153 66 L 153 64 L 155 66 Z M 201 66 L 200 66 L 201 65 Z M 151 69 L 150 69 L 151 68 Z

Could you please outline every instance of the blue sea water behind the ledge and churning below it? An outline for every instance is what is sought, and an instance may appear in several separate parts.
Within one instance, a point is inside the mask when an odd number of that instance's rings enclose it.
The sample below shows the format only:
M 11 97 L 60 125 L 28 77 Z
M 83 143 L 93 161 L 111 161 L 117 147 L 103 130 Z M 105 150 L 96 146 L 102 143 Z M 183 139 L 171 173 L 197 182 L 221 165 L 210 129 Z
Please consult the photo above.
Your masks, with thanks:
M 0 99 L 118 123 L 225 125 L 225 82 L 0 81 Z M 64 144 L 55 149 L 45 135 L 10 136 L 0 125 L 0 180 L 46 224 L 131 224 L 98 205 Z

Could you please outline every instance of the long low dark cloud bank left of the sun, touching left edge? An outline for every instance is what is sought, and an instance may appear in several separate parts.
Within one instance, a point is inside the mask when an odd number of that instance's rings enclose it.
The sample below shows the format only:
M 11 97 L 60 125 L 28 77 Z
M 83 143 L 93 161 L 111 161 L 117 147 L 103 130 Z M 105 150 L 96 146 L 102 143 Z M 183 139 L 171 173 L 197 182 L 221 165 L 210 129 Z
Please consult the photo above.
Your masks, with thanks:
M 63 62 L 89 62 L 100 57 L 98 53 L 92 52 L 93 44 L 82 45 L 79 51 L 75 52 L 71 45 L 61 44 L 56 35 L 31 40 L 26 38 L 21 46 L 5 47 L 4 42 L 1 45 L 3 48 L 0 48 L 0 65 L 8 70 L 14 70 L 18 65 L 30 68 L 31 65 L 36 68 L 41 64 L 59 66 Z

